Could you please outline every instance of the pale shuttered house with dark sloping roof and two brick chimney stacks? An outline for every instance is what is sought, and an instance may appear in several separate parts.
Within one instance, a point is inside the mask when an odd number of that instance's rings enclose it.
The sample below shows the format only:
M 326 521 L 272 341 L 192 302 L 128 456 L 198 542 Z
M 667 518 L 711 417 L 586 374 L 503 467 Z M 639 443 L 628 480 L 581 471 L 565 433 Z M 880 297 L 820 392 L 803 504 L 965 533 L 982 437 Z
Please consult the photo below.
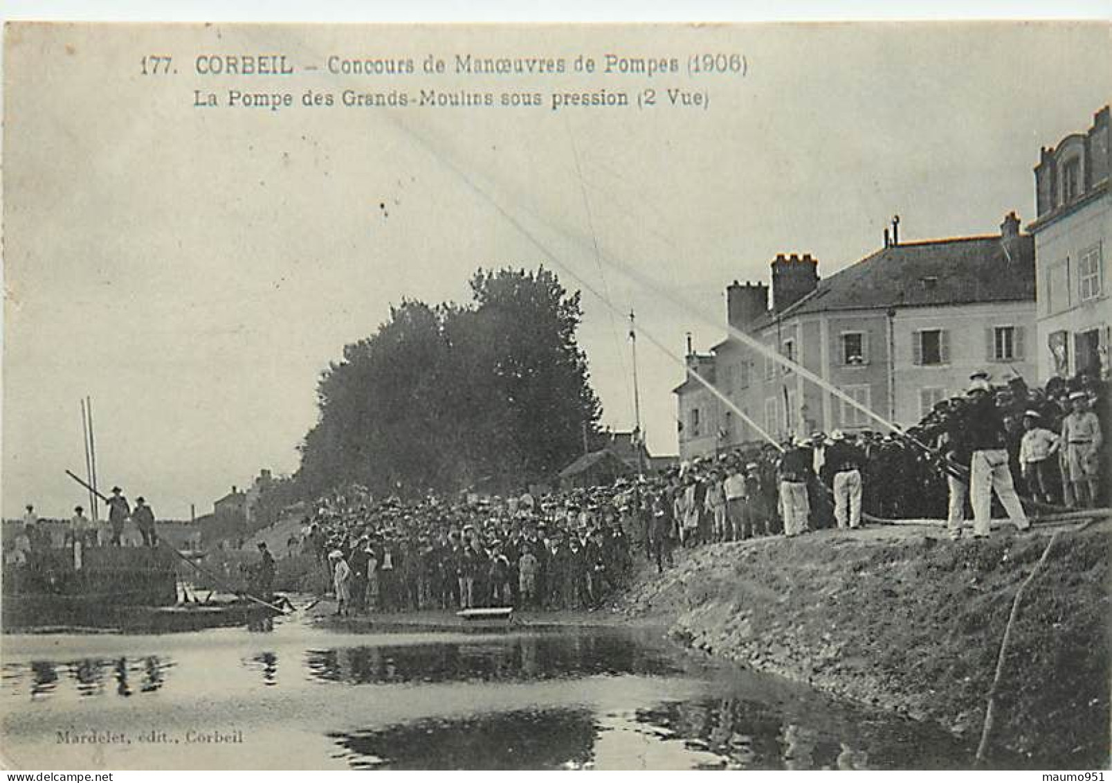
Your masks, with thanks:
M 810 255 L 777 256 L 771 288 L 726 288 L 729 326 L 903 426 L 963 393 L 975 369 L 1033 380 L 1034 240 L 1015 214 L 987 236 L 901 244 L 896 228 L 882 249 L 826 279 Z M 689 349 L 687 363 L 673 390 L 681 458 L 762 439 L 694 373 L 778 439 L 882 428 L 733 336 L 707 354 Z

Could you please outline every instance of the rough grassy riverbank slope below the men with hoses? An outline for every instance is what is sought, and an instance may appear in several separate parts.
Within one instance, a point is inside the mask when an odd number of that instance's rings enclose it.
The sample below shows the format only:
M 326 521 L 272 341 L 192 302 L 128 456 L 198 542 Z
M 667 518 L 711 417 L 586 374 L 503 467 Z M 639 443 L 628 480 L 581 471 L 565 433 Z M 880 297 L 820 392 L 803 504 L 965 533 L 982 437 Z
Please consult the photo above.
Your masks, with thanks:
M 975 746 L 1012 601 L 996 697 L 1001 766 L 1109 762 L 1112 522 L 950 542 L 936 527 L 717 544 L 643 572 L 619 601 L 678 641 L 833 695 L 937 722 Z

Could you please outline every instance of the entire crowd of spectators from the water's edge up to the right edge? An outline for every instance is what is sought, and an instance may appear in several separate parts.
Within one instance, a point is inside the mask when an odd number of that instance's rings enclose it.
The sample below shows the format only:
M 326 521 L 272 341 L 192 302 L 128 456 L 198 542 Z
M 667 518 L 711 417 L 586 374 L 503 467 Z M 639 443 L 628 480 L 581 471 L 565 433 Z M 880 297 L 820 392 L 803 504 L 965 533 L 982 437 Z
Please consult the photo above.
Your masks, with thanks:
M 982 536 L 994 507 L 1027 527 L 1021 495 L 1044 511 L 1106 503 L 1110 402 L 1108 383 L 1086 374 L 1029 388 L 976 373 L 905 433 L 814 433 L 544 494 L 373 503 L 363 487 L 338 490 L 318 500 L 300 545 L 341 614 L 593 608 L 635 557 L 663 571 L 676 547 L 870 519 L 946 518 L 959 537 L 967 503 Z

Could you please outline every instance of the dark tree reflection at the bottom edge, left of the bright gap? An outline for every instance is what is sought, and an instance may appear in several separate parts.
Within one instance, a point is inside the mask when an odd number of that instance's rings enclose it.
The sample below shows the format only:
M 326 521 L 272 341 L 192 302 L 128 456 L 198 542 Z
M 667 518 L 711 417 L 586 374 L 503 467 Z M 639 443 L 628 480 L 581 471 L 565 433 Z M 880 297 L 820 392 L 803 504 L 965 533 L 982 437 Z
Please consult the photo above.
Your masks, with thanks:
M 330 734 L 353 769 L 557 770 L 592 764 L 587 708 L 519 710 Z

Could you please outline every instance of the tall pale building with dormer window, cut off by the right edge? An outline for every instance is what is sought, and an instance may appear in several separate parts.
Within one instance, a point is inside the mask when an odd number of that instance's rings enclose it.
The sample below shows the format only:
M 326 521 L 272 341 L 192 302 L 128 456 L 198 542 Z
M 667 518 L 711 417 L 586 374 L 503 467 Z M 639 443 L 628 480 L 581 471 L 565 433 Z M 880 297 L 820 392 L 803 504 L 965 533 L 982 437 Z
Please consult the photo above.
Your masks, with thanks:
M 1112 240 L 1112 170 L 1109 107 L 1083 133 L 1043 147 L 1035 167 L 1035 238 L 1039 279 L 1039 377 L 1081 370 L 1108 377 L 1109 271 Z

